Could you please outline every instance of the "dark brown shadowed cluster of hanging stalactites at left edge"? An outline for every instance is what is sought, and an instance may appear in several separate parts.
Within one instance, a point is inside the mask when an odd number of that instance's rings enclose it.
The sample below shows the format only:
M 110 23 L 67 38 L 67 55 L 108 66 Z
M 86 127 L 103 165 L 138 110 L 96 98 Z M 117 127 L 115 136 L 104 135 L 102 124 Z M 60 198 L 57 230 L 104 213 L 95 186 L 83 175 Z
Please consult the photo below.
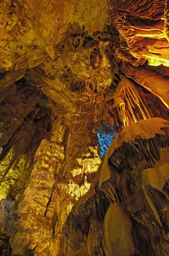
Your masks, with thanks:
M 0 183 L 24 155 L 25 167 L 33 163 L 36 149 L 50 127 L 51 110 L 44 107 L 47 101 L 24 80 L 0 85 L 0 162 L 6 161 L 10 152 L 6 169 L 3 173 L 0 169 Z

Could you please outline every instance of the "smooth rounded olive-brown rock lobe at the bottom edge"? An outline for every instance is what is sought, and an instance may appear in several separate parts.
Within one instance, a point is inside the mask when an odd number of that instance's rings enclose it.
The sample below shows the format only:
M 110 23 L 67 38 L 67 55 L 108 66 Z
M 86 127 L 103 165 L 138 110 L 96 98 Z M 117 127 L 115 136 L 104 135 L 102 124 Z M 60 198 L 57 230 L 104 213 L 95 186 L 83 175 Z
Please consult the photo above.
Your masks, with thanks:
M 117 203 L 110 204 L 105 215 L 104 251 L 107 256 L 135 253 L 130 216 Z

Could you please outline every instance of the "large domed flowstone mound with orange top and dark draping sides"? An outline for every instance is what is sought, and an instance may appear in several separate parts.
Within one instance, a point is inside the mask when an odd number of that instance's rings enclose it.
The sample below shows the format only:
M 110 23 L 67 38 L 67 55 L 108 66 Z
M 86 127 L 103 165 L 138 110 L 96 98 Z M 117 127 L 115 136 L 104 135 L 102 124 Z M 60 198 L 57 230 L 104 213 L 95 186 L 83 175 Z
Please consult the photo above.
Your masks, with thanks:
M 168 183 L 169 122 L 152 118 L 125 128 L 65 222 L 67 255 L 78 255 L 83 243 L 89 255 L 167 255 Z M 79 225 L 88 242 L 69 235 Z

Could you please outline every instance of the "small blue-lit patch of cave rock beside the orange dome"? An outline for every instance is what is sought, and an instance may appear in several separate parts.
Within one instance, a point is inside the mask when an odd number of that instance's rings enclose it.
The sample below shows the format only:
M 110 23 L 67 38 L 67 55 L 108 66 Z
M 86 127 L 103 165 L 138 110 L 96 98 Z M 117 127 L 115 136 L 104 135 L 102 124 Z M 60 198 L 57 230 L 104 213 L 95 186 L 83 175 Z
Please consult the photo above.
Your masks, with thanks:
M 104 129 L 99 128 L 97 132 L 98 142 L 97 146 L 100 148 L 100 157 L 106 155 L 108 147 L 111 145 L 113 139 L 117 137 L 114 133 L 116 125 L 114 124 L 113 129 L 110 126 L 106 126 Z

